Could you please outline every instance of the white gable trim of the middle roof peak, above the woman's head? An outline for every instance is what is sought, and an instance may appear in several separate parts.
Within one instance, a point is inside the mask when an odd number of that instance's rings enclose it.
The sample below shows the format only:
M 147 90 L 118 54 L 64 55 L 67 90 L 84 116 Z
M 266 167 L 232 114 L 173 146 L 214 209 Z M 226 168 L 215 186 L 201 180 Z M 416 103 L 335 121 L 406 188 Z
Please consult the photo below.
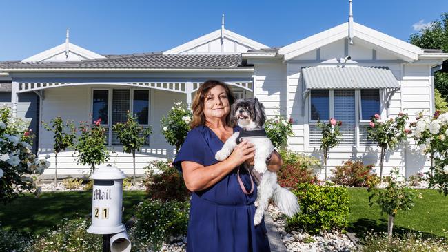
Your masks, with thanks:
M 258 43 L 256 41 L 253 41 L 252 39 L 248 39 L 245 36 L 241 36 L 240 34 L 236 34 L 235 32 L 231 32 L 230 30 L 227 29 L 223 29 L 223 36 L 225 39 L 235 41 L 236 43 L 244 45 L 248 48 L 252 49 L 269 48 L 269 46 L 267 45 L 263 45 L 262 43 Z M 187 43 L 183 43 L 182 45 L 176 46 L 175 48 L 163 52 L 163 54 L 180 54 L 192 50 L 200 45 L 205 45 L 206 43 L 209 43 L 219 38 L 221 38 L 221 29 L 218 29 L 214 32 L 210 32 L 209 34 L 205 34 L 204 36 L 201 36 Z

